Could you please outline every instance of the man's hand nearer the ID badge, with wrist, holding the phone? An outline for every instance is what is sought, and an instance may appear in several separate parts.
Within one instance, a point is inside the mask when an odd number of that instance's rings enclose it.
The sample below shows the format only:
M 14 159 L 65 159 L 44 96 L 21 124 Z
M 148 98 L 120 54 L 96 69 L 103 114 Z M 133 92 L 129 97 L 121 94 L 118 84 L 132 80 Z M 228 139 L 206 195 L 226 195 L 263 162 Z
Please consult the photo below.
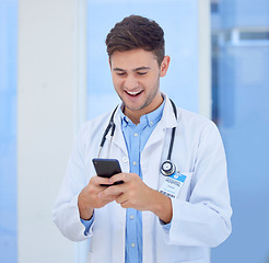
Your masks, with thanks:
M 164 222 L 171 221 L 172 203 L 167 196 L 150 188 L 136 173 L 118 173 L 108 180 L 110 184 L 117 181 L 124 183 L 101 191 L 98 197 L 104 201 L 115 198 L 124 208 L 150 210 Z

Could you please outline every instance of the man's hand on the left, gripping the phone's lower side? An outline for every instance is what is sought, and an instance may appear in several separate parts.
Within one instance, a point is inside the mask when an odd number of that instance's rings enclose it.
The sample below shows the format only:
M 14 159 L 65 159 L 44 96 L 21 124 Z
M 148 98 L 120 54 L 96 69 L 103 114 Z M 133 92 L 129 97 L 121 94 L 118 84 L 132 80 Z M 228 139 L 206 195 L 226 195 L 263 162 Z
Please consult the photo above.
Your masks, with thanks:
M 117 197 L 110 195 L 100 198 L 98 193 L 107 188 L 107 186 L 101 186 L 101 184 L 112 183 L 107 178 L 93 176 L 89 184 L 81 191 L 78 198 L 80 218 L 89 220 L 93 215 L 93 208 L 101 208 Z

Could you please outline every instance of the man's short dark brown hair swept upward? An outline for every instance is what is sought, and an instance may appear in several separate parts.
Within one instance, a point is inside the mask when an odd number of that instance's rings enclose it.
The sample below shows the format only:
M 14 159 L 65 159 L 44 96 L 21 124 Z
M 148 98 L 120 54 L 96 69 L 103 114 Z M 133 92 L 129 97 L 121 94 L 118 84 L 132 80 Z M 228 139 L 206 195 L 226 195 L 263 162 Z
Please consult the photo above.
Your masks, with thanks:
M 106 50 L 110 58 L 114 52 L 142 48 L 152 52 L 161 65 L 165 56 L 163 36 L 164 32 L 155 21 L 130 15 L 110 30 L 106 37 Z

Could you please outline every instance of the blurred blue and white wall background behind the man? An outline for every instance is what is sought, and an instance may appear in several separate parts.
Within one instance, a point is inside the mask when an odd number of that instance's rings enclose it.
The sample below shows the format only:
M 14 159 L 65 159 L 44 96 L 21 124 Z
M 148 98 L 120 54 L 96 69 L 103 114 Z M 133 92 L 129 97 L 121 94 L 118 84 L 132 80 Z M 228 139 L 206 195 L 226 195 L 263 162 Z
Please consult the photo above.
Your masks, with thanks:
M 118 103 L 106 34 L 155 20 L 161 89 L 219 127 L 234 210 L 212 263 L 269 263 L 269 0 L 0 0 L 0 262 L 84 263 L 51 221 L 77 130 Z

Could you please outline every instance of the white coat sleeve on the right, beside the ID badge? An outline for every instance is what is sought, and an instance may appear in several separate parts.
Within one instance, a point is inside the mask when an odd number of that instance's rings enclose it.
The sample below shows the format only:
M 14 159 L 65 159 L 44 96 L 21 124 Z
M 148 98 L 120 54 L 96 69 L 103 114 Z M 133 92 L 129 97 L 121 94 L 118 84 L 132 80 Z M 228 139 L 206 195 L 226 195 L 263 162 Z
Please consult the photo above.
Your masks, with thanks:
M 168 244 L 213 248 L 231 233 L 226 159 L 215 125 L 201 132 L 188 201 L 172 198 L 173 219 L 163 231 Z

